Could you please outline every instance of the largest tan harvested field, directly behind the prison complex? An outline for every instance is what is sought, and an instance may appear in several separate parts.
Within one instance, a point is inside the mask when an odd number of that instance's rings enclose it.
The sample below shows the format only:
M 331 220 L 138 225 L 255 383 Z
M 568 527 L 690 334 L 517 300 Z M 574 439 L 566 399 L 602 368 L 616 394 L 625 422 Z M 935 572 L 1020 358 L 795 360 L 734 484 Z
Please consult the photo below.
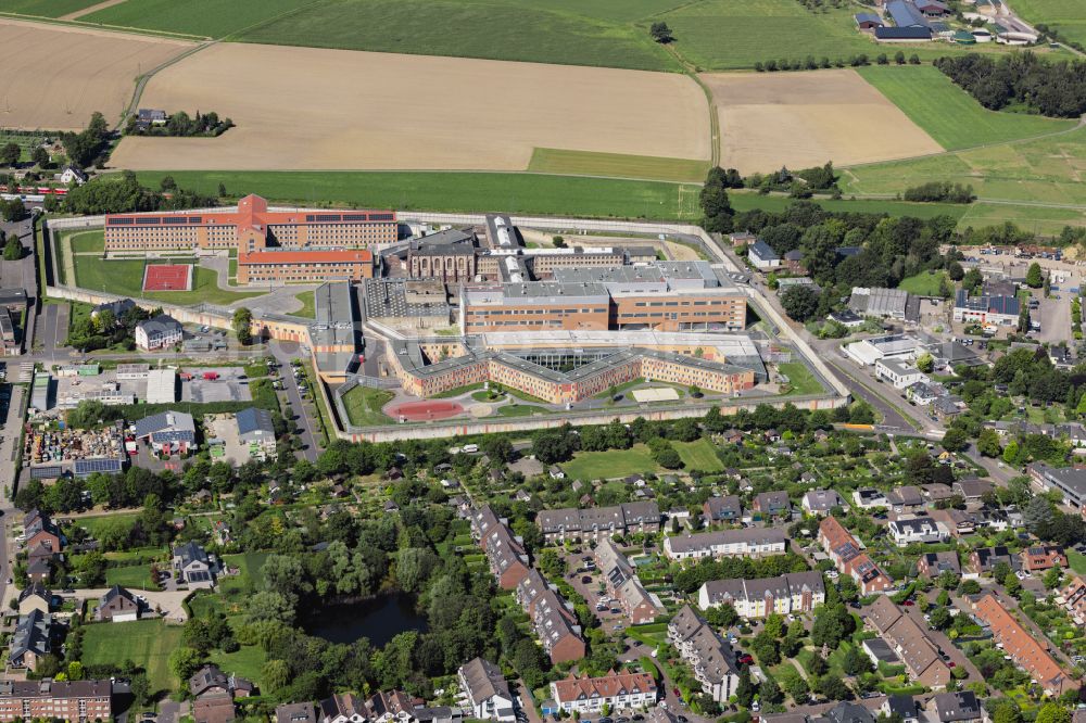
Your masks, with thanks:
M 679 74 L 219 43 L 140 102 L 215 110 L 219 138 L 126 138 L 132 169 L 523 170 L 536 147 L 709 157 L 705 94 Z

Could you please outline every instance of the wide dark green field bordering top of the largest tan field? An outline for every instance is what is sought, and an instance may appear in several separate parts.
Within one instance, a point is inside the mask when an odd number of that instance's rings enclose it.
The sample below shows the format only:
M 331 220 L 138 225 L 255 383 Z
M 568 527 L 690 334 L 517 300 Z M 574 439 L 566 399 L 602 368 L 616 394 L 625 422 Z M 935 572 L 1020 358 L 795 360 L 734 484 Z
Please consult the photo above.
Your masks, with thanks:
M 144 2 L 129 0 L 126 4 Z M 238 33 L 233 39 L 389 53 L 677 71 L 678 63 L 648 36 L 647 21 L 634 24 L 639 17 L 675 4 L 675 0 L 622 3 L 607 0 L 552 0 L 546 3 L 529 0 L 319 0 L 289 16 Z

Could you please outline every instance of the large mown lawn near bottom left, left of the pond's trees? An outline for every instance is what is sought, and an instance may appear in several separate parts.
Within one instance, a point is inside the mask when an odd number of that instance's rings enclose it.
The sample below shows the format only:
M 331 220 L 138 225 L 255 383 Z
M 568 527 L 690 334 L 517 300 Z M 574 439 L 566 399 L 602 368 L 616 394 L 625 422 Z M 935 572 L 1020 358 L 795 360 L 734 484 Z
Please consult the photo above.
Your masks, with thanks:
M 181 644 L 180 625 L 162 620 L 97 623 L 84 627 L 85 665 L 119 664 L 131 660 L 147 670 L 152 693 L 173 690 L 177 680 L 169 672 L 169 654 Z

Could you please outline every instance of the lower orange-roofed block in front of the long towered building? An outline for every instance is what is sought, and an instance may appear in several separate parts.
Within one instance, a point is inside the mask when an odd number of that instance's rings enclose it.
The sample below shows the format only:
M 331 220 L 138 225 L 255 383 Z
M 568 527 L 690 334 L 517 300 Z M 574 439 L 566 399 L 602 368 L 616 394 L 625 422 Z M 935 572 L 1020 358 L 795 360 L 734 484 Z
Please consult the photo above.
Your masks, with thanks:
M 366 249 L 253 251 L 238 254 L 238 283 L 361 281 L 374 276 Z

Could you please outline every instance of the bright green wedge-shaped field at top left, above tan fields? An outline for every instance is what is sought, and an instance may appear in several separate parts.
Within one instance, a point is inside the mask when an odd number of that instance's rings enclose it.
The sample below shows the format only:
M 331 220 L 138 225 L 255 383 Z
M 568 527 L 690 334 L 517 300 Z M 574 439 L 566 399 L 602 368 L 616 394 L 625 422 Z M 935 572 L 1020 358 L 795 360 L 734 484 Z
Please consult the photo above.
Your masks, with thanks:
M 126 28 L 222 38 L 285 13 L 313 0 L 127 0 L 79 18 Z M 92 4 L 92 3 L 84 3 Z

